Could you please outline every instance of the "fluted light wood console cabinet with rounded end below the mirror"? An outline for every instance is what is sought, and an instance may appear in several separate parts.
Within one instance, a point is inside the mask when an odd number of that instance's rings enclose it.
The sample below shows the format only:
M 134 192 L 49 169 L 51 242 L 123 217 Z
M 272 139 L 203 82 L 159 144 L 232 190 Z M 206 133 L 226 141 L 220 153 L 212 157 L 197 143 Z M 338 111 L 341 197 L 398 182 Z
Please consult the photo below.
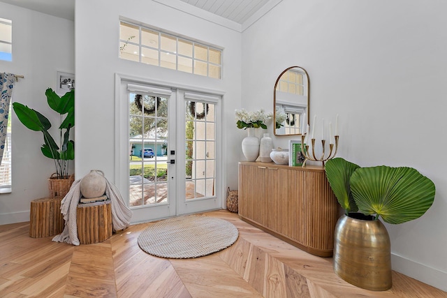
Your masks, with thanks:
M 324 167 L 239 163 L 239 216 L 303 251 L 332 256 L 338 202 Z

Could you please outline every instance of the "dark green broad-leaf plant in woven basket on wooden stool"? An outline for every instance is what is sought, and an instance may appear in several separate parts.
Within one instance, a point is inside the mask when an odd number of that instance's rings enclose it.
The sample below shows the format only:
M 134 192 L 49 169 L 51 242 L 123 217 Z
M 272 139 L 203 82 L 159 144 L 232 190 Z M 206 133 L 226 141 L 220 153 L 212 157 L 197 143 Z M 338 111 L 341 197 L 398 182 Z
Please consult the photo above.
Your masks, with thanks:
M 51 88 L 45 91 L 47 103 L 52 110 L 59 113 L 59 144 L 50 135 L 50 120 L 40 112 L 22 103 L 13 103 L 17 118 L 31 131 L 41 131 L 43 142 L 41 151 L 44 156 L 54 161 L 56 172 L 48 179 L 51 196 L 64 196 L 73 183 L 73 175 L 69 174 L 68 161 L 75 158 L 75 143 L 70 140 L 70 131 L 75 126 L 75 90 L 57 95 Z M 65 119 L 63 116 L 66 115 Z

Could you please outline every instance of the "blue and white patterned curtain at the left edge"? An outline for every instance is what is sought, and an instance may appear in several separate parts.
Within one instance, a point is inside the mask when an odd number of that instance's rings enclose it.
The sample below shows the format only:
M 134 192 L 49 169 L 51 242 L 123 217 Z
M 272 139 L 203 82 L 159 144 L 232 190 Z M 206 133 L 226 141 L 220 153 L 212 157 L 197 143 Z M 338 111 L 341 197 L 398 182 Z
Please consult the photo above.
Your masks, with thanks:
M 6 133 L 8 131 L 8 114 L 11 95 L 13 94 L 14 75 L 12 73 L 0 73 L 0 165 L 5 149 Z

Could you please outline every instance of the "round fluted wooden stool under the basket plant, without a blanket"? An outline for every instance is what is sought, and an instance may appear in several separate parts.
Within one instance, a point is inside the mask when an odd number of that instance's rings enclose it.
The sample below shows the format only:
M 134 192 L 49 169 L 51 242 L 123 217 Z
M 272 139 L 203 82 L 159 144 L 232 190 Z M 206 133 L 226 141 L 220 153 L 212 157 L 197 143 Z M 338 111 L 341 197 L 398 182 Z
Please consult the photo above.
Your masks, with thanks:
M 62 197 L 52 197 L 31 201 L 31 210 L 29 211 L 29 237 L 49 237 L 60 234 L 64 230 L 61 200 Z

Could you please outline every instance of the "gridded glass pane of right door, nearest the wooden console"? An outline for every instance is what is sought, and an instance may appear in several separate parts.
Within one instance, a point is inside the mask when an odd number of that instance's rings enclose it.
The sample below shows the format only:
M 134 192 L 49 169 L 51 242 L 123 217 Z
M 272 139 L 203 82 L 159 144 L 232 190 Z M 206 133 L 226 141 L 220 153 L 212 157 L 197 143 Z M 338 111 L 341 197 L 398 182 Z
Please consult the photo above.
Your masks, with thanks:
M 186 101 L 186 200 L 214 196 L 214 110 L 214 103 Z

